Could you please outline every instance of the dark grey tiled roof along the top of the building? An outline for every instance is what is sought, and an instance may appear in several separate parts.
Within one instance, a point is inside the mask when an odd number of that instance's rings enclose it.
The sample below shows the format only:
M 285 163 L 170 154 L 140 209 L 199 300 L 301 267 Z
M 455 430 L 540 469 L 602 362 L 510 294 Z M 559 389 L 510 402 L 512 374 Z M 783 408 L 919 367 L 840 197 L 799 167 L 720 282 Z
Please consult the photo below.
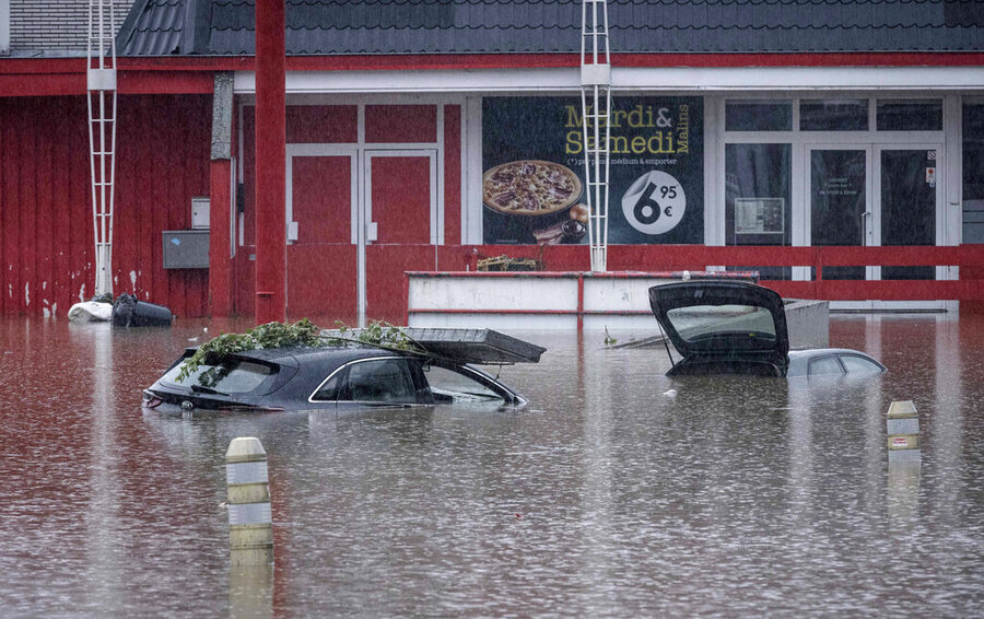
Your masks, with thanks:
M 576 52 L 581 0 L 286 0 L 293 56 Z M 254 54 L 253 0 L 137 0 L 124 56 Z M 982 51 L 981 0 L 610 0 L 613 52 Z

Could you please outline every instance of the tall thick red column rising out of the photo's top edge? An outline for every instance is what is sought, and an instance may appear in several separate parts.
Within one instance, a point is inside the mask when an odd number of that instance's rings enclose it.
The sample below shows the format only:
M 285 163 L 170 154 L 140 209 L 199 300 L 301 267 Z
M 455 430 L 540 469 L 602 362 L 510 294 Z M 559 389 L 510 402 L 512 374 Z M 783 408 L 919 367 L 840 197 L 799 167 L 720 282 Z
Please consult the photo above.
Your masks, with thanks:
M 256 323 L 286 319 L 284 0 L 256 2 Z

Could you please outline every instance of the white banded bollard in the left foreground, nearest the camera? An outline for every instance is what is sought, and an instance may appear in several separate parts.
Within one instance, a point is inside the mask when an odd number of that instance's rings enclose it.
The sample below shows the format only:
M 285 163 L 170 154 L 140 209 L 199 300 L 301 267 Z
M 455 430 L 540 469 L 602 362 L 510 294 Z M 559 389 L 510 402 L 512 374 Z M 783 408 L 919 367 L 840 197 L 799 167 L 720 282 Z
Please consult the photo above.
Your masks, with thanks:
M 259 439 L 233 439 L 225 452 L 229 558 L 233 565 L 273 562 L 273 516 L 267 452 Z

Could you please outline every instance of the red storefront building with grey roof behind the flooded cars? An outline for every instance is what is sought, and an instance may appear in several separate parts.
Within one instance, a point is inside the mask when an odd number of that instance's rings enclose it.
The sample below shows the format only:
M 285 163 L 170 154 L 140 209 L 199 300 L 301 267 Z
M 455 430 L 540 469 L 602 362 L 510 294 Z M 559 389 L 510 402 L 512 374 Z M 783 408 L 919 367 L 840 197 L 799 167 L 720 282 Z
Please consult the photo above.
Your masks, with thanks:
M 286 3 L 291 318 L 400 320 L 405 271 L 487 256 L 589 269 L 587 238 L 559 232 L 578 200 L 517 214 L 483 179 L 546 161 L 584 180 L 581 9 Z M 679 0 L 609 17 L 608 269 L 757 268 L 848 308 L 981 300 L 979 3 Z M 115 293 L 179 316 L 253 313 L 253 27 L 232 0 L 138 0 L 122 24 Z M 9 37 L 0 303 L 58 316 L 94 281 L 85 60 Z M 665 189 L 658 211 L 641 207 L 647 184 Z M 206 268 L 164 249 L 165 232 L 192 230 L 195 198 L 210 205 Z

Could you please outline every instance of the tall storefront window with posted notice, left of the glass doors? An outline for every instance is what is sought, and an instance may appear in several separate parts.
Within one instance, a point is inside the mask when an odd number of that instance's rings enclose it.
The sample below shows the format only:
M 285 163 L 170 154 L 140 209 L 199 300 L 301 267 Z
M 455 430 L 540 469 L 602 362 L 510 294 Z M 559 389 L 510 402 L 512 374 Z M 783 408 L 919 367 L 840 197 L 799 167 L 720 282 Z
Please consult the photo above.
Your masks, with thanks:
M 725 145 L 725 242 L 790 245 L 790 144 Z M 789 279 L 789 267 L 736 266 L 763 280 Z M 730 269 L 729 269 L 730 270 Z

